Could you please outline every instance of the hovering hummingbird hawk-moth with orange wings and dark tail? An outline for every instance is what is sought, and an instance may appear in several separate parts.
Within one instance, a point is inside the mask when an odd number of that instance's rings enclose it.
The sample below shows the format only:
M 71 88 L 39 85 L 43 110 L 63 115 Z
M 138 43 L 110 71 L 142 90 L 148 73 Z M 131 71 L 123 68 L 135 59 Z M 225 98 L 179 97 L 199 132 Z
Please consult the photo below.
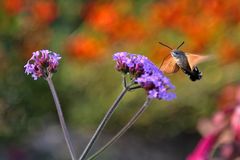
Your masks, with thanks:
M 176 73 L 181 69 L 192 81 L 200 80 L 202 73 L 198 70 L 197 64 L 208 59 L 208 56 L 185 53 L 179 48 L 184 44 L 182 42 L 177 49 L 173 49 L 166 44 L 159 42 L 161 45 L 171 49 L 171 54 L 166 56 L 160 66 L 164 73 Z

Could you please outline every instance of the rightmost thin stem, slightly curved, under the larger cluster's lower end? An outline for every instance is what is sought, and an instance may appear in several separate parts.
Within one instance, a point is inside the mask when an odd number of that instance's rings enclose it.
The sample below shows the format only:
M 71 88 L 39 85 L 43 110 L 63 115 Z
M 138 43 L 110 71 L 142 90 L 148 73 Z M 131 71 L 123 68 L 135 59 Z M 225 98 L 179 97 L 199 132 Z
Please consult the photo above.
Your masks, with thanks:
M 115 141 L 117 141 L 142 115 L 142 113 L 147 109 L 151 100 L 149 98 L 146 99 L 142 107 L 133 115 L 133 117 L 129 120 L 129 122 L 111 139 L 109 140 L 102 148 L 100 148 L 96 153 L 94 153 L 87 160 L 92 160 L 96 158 L 100 153 L 102 153 L 105 149 L 107 149 L 110 145 L 112 145 Z

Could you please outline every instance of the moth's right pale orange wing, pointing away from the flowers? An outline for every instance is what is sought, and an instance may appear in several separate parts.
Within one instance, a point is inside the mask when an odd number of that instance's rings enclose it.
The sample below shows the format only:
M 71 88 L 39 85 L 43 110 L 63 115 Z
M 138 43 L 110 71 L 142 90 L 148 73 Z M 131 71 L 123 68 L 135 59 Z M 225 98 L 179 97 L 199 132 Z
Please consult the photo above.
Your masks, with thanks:
M 193 69 L 197 64 L 207 61 L 209 59 L 209 56 L 202 56 L 190 53 L 186 53 L 186 56 L 191 69 Z

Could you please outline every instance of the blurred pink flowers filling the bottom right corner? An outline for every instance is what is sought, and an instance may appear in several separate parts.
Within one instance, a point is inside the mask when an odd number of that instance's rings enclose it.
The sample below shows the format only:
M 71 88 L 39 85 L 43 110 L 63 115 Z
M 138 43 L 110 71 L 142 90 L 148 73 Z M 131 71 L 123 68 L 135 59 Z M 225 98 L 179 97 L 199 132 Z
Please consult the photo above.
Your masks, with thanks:
M 239 85 L 231 84 L 221 91 L 219 111 L 214 113 L 211 119 L 200 119 L 198 129 L 203 138 L 190 154 L 188 160 L 240 158 Z M 209 158 L 210 156 L 211 158 Z

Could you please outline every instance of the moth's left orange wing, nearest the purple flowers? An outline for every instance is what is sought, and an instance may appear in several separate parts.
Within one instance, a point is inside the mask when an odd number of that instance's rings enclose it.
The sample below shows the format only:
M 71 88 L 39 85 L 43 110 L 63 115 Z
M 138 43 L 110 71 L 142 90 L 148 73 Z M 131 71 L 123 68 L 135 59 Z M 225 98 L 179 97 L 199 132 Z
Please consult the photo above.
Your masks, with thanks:
M 163 59 L 160 70 L 163 73 L 176 73 L 179 70 L 179 66 L 176 64 L 174 58 L 171 55 L 168 55 Z

